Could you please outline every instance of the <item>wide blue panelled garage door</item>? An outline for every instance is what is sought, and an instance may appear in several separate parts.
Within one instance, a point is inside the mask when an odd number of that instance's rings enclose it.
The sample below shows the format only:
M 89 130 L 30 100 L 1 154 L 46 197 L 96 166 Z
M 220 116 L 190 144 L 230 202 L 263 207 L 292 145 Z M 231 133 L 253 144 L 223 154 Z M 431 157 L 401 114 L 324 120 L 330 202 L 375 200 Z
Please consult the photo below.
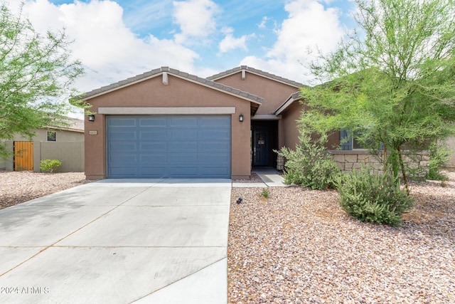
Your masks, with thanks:
M 229 115 L 107 116 L 107 177 L 230 178 Z

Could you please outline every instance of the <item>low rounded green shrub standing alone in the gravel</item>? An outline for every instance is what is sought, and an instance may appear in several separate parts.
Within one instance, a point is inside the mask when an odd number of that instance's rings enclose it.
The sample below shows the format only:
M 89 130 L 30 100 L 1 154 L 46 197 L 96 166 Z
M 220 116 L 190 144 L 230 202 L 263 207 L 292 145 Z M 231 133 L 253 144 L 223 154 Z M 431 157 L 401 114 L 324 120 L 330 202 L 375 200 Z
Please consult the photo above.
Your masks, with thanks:
M 395 184 L 392 174 L 363 167 L 337 180 L 341 207 L 360 221 L 400 226 L 401 216 L 414 204 L 414 197 Z

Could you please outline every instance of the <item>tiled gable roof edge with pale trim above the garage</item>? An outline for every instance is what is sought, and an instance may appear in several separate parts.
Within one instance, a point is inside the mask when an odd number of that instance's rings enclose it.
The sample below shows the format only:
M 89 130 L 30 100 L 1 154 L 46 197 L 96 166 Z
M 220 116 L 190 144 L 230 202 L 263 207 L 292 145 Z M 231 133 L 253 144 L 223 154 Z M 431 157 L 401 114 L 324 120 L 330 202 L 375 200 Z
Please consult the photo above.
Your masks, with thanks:
M 106 85 L 104 87 L 97 88 L 95 90 L 91 90 L 90 92 L 87 92 L 87 93 L 85 93 L 85 95 L 82 96 L 82 100 L 90 100 L 97 96 L 104 95 L 106 93 L 110 93 L 115 90 L 119 90 L 121 88 L 125 88 L 129 85 L 134 85 L 135 83 L 140 83 L 142 81 L 158 77 L 160 75 L 163 75 L 164 73 L 168 73 L 170 75 L 181 78 L 183 80 L 191 81 L 192 83 L 196 83 L 198 85 L 203 85 L 203 86 L 205 86 L 207 88 L 211 88 L 213 90 L 218 90 L 220 92 L 223 92 L 223 93 L 226 93 L 229 95 L 233 95 L 237 98 L 242 98 L 244 100 L 248 100 L 248 101 L 250 101 L 250 103 L 255 104 L 255 106 L 252 105 L 252 108 L 255 108 L 256 110 L 257 110 L 257 108 L 259 108 L 259 105 L 262 103 L 262 100 L 264 100 L 264 98 L 260 98 L 257 95 L 253 95 L 253 94 L 244 92 L 242 90 L 237 90 L 235 88 L 231 88 L 228 85 L 222 85 L 221 83 L 215 83 L 212 80 L 200 78 L 196 75 L 184 73 L 184 72 L 181 72 L 180 70 L 168 68 L 167 66 L 162 66 L 161 68 L 156 68 L 154 70 L 150 70 L 149 72 L 136 75 L 132 78 L 127 78 L 125 80 L 119 81 L 118 83 L 112 83 L 110 85 Z

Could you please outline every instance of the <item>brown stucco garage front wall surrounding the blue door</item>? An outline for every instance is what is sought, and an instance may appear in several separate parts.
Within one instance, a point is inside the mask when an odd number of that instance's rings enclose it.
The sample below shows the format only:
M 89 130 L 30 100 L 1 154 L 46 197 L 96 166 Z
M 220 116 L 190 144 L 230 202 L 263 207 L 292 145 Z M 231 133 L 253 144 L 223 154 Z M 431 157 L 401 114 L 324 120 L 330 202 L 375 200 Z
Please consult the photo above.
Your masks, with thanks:
M 161 76 L 87 100 L 90 110 L 98 107 L 235 107 L 232 125 L 232 177 L 248 177 L 250 166 L 250 101 L 222 93 L 188 80 L 168 75 L 168 85 Z M 239 122 L 243 114 L 244 122 Z M 97 135 L 90 135 L 97 131 Z M 95 115 L 95 122 L 85 118 L 85 175 L 87 179 L 106 178 L 106 116 Z

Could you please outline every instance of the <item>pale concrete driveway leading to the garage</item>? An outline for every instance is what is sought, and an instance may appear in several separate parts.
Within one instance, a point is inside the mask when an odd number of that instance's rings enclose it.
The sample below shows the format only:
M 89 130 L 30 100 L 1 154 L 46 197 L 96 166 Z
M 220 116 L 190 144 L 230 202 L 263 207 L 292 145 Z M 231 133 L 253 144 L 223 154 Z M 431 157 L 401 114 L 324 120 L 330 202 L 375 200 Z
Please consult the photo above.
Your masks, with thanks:
M 227 303 L 230 179 L 105 179 L 0 210 L 0 303 Z

